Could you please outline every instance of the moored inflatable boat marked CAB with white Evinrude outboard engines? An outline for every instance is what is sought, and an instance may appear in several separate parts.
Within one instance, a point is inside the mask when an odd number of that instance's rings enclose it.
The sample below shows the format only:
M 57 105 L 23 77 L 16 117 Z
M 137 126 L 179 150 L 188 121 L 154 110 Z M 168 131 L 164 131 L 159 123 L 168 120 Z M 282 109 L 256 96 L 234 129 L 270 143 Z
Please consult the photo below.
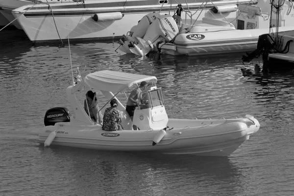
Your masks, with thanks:
M 253 51 L 259 35 L 268 33 L 269 27 L 274 32 L 294 30 L 292 0 L 285 0 L 276 9 L 278 2 L 217 5 L 206 11 L 198 23 L 182 19 L 182 15 L 189 15 L 189 9 L 181 6 L 174 15 L 149 13 L 123 35 L 119 49 L 140 56 L 158 50 L 191 56 Z

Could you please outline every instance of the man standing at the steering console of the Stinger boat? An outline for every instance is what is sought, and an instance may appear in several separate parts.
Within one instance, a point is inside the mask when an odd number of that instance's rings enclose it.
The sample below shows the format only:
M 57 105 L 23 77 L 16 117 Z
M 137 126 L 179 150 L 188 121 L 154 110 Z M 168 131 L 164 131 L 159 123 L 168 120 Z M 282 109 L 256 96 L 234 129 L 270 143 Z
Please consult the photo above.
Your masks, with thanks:
M 147 82 L 141 82 L 139 88 L 134 89 L 127 99 L 125 110 L 130 115 L 132 121 L 134 117 L 135 108 L 138 107 L 142 102 L 142 91 L 144 91 L 146 87 Z M 133 125 L 133 129 L 137 130 L 137 126 Z

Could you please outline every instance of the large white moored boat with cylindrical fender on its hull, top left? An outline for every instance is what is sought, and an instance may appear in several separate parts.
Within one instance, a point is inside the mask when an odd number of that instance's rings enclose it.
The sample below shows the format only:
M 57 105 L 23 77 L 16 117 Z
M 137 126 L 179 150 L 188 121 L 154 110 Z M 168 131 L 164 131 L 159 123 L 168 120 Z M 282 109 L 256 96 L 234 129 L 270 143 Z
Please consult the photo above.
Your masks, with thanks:
M 258 0 L 214 1 L 215 5 L 247 4 Z M 178 3 L 189 7 L 191 13 L 203 6 L 202 0 L 85 0 L 83 3 L 54 3 L 26 5 L 12 14 L 32 42 L 71 40 L 106 40 L 120 37 L 150 12 L 173 14 Z M 193 15 L 202 18 L 210 8 Z M 202 7 L 201 7 L 202 8 Z M 187 20 L 190 17 L 187 16 Z M 182 16 L 185 19 L 185 16 Z

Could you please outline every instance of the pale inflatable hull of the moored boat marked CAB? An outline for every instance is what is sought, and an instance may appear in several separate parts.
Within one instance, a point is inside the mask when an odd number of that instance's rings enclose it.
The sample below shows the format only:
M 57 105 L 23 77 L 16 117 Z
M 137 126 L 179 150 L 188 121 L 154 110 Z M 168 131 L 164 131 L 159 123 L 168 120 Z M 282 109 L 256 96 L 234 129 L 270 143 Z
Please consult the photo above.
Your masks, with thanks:
M 294 26 L 281 26 L 279 27 L 279 32 L 293 29 Z M 268 28 L 262 28 L 180 34 L 176 37 L 174 44 L 163 45 L 161 53 L 200 56 L 253 51 L 257 47 L 259 36 L 268 32 Z M 196 35 L 201 35 L 204 39 L 196 40 L 190 38 Z

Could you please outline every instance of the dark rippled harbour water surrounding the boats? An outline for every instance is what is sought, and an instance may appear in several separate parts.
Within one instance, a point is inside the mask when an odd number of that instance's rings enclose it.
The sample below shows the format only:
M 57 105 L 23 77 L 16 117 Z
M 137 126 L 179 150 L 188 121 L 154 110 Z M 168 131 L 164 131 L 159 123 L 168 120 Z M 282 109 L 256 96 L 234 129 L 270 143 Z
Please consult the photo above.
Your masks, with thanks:
M 294 195 L 294 73 L 259 72 L 260 59 L 136 57 L 116 43 L 32 45 L 22 31 L 0 32 L 0 196 Z M 261 128 L 230 157 L 152 155 L 44 147 L 45 112 L 70 108 L 72 70 L 155 75 L 171 118 L 250 114 Z M 254 66 L 257 64 L 257 66 Z M 294 69 L 294 68 L 293 68 Z

